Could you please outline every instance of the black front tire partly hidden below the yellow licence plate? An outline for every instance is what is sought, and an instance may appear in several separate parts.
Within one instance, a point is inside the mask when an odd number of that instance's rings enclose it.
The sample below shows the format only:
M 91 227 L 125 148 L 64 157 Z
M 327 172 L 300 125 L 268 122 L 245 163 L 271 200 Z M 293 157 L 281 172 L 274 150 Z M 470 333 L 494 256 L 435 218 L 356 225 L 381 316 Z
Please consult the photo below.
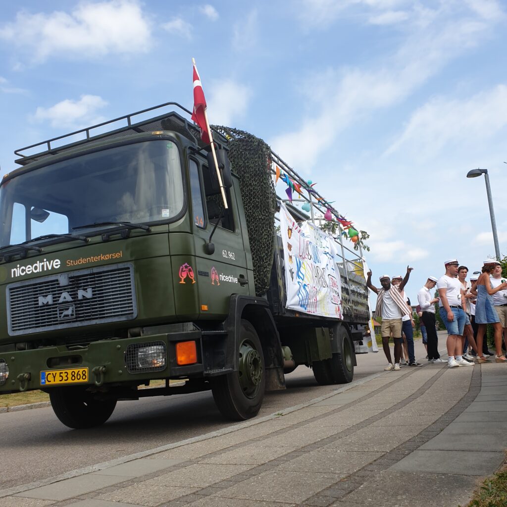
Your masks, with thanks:
M 91 392 L 79 388 L 56 388 L 49 392 L 56 417 L 74 429 L 100 426 L 115 410 L 117 400 L 95 400 Z

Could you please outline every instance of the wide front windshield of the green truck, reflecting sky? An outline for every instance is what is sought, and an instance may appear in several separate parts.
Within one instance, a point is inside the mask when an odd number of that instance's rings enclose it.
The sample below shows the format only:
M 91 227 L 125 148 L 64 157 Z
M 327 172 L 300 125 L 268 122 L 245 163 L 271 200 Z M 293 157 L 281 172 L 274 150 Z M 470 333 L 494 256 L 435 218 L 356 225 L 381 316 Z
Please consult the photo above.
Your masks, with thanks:
M 7 180 L 0 190 L 0 246 L 102 222 L 142 224 L 183 208 L 177 146 L 167 139 L 79 155 Z M 79 234 L 101 228 L 80 229 Z

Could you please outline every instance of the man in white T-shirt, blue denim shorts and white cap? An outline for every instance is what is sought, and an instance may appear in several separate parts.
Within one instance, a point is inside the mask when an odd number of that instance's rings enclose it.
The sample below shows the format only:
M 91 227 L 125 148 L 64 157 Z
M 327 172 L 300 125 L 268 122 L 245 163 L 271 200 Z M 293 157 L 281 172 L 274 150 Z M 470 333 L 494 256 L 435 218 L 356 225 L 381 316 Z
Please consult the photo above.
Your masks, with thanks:
M 447 353 L 449 354 L 449 368 L 458 366 L 474 366 L 463 359 L 463 330 L 465 327 L 465 312 L 463 310 L 463 286 L 457 279 L 459 263 L 456 259 L 449 259 L 445 263 L 445 275 L 437 282 L 440 295 L 440 316 L 447 329 Z

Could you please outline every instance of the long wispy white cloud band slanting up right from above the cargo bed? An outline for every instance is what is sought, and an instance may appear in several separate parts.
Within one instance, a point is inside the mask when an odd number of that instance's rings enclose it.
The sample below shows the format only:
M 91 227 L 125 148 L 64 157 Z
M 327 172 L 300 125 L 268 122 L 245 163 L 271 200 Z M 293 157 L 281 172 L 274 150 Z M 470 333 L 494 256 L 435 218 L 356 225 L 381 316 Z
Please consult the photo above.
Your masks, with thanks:
M 488 37 L 496 22 L 470 18 L 468 11 L 459 17 L 445 6 L 442 9 L 445 12 L 421 14 L 417 23 L 410 25 L 399 50 L 377 68 L 328 69 L 323 75 L 302 80 L 304 88 L 301 83 L 294 84 L 311 97 L 311 116 L 303 118 L 296 130 L 271 139 L 273 149 L 285 154 L 288 163 L 297 161 L 310 170 L 350 124 L 405 100 L 449 60 Z M 424 22 L 419 25 L 421 19 Z

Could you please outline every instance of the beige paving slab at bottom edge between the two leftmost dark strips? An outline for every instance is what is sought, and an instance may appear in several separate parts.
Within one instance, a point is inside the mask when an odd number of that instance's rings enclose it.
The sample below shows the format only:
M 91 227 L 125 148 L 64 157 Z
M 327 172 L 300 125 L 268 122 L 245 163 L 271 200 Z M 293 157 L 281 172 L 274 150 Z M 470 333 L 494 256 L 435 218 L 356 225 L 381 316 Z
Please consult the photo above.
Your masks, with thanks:
M 110 493 L 103 493 L 96 497 L 97 500 L 108 500 L 112 507 L 116 507 L 114 502 L 133 503 L 135 505 L 149 505 L 155 507 L 161 503 L 174 500 L 181 496 L 188 495 L 197 491 L 199 488 L 185 488 L 175 486 L 160 486 L 155 484 L 147 485 L 146 482 L 140 482 L 127 486 L 126 488 L 118 489 Z M 90 507 L 95 507 L 91 505 Z M 101 507 L 101 506 L 97 506 Z M 104 506 L 104 507 L 109 507 Z

